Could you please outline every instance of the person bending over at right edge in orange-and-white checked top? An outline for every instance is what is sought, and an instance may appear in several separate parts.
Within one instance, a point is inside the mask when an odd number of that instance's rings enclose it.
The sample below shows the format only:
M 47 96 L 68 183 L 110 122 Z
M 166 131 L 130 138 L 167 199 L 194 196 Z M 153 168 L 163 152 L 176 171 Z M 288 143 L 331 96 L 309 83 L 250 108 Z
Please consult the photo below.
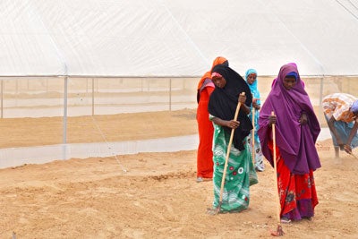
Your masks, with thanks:
M 358 146 L 358 99 L 349 94 L 334 93 L 323 98 L 322 107 L 336 158 L 339 158 L 339 149 L 351 154 Z

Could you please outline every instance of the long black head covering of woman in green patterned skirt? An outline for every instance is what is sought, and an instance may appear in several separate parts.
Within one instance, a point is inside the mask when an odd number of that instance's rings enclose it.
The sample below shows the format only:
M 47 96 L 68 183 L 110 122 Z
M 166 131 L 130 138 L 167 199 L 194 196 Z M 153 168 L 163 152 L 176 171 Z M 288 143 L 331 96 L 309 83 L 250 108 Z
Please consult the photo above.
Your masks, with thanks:
M 230 67 L 218 64 L 211 73 L 219 73 L 226 80 L 224 88 L 216 87 L 209 98 L 209 113 L 223 120 L 233 120 L 234 113 L 238 104 L 239 94 L 245 92 L 247 107 L 251 107 L 251 90 L 243 77 Z M 252 124 L 250 118 L 240 109 L 237 120 L 240 122 L 238 128 L 234 130 L 234 148 L 243 150 L 243 139 L 250 134 Z M 231 128 L 223 127 L 226 133 L 231 133 Z

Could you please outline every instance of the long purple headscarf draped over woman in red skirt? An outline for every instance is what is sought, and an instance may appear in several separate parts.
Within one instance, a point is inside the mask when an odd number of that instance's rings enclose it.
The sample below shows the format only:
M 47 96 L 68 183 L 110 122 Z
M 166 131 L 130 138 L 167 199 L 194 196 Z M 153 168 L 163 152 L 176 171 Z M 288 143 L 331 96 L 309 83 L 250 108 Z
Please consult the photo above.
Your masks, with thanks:
M 296 84 L 293 89 L 286 90 L 283 82 L 286 75 L 292 72 L 297 73 Z M 310 169 L 319 168 L 320 158 L 315 142 L 320 133 L 320 124 L 295 64 L 285 64 L 281 67 L 277 81 L 273 83 L 268 98 L 260 109 L 258 134 L 262 152 L 273 166 L 268 149 L 268 141 L 271 139 L 268 116 L 272 111 L 277 115 L 276 144 L 290 171 L 302 175 L 309 173 Z M 299 119 L 303 112 L 307 115 L 308 123 L 301 125 Z

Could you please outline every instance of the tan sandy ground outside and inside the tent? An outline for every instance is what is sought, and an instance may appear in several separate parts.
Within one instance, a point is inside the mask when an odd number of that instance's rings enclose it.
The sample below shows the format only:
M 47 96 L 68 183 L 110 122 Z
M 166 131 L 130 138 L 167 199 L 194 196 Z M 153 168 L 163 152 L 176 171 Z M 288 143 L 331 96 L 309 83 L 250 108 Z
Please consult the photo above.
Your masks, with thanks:
M 107 141 L 128 141 L 197 132 L 194 110 L 70 120 L 71 142 L 103 141 L 103 133 Z M 55 143 L 49 125 L 61 121 L 38 118 L 15 123 L 1 121 L 2 143 L 11 127 L 41 132 L 38 138 L 19 133 L 18 145 Z M 316 215 L 311 221 L 283 225 L 288 238 L 358 238 L 358 159 L 345 154 L 334 159 L 330 145 L 330 140 L 317 144 L 322 167 L 315 173 L 320 200 Z M 277 230 L 277 202 L 268 164 L 258 175 L 260 183 L 251 187 L 250 208 L 216 216 L 206 214 L 213 200 L 212 183 L 196 183 L 195 172 L 196 150 L 72 158 L 1 169 L 0 238 L 12 238 L 13 232 L 17 238 L 272 237 L 270 232 Z

